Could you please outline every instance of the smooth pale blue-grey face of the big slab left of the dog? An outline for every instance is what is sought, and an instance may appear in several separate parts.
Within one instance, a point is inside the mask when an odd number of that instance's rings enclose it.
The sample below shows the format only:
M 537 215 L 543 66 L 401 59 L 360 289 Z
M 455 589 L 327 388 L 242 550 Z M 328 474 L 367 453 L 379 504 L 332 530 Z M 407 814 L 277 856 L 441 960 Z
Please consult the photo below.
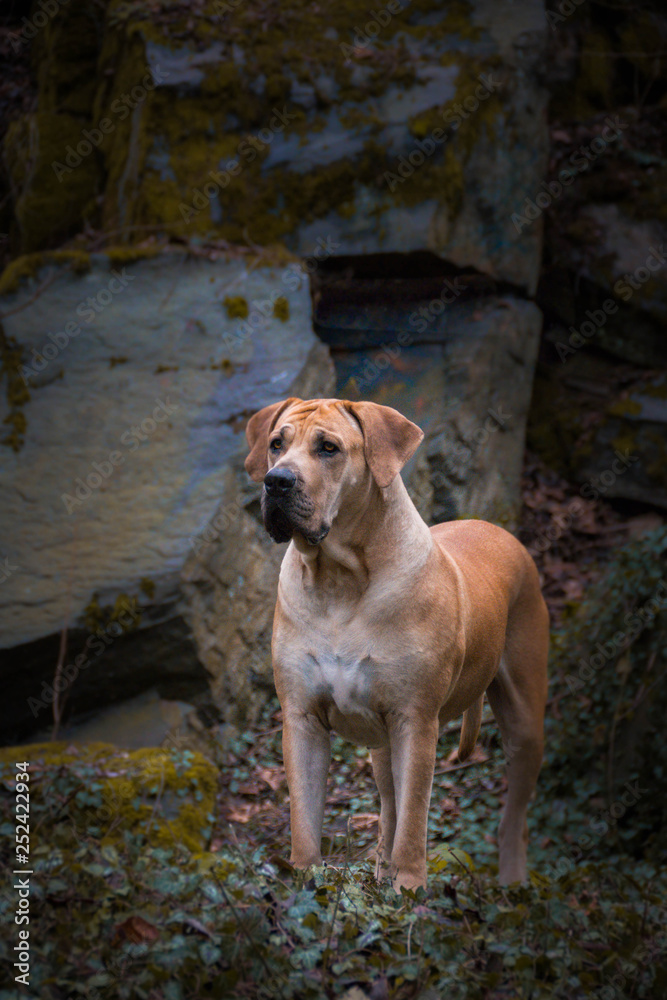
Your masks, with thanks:
M 180 613 L 193 544 L 219 506 L 248 499 L 247 418 L 276 396 L 330 388 L 308 288 L 286 273 L 168 254 L 122 269 L 111 294 L 100 258 L 82 276 L 57 272 L 33 301 L 44 272 L 3 300 L 24 357 L 55 352 L 29 378 L 24 447 L 3 451 L 1 554 L 16 567 L 0 588 L 5 647 L 84 627 L 94 595 L 102 608 L 135 598 L 141 627 Z M 277 295 L 289 303 L 284 322 L 253 309 Z M 249 335 L 227 318 L 225 296 L 247 300 Z M 110 301 L 88 321 L 90 297 Z M 71 321 L 81 332 L 47 348 Z

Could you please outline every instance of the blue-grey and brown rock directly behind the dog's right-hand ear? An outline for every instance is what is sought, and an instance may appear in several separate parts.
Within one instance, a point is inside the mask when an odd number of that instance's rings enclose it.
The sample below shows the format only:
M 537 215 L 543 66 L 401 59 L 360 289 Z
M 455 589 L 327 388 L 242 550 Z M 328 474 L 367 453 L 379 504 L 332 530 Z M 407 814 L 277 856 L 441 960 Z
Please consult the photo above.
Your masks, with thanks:
M 393 406 L 425 440 L 404 469 L 430 524 L 480 517 L 512 529 L 519 510 L 539 309 L 479 276 L 347 281 L 315 314 L 337 394 Z

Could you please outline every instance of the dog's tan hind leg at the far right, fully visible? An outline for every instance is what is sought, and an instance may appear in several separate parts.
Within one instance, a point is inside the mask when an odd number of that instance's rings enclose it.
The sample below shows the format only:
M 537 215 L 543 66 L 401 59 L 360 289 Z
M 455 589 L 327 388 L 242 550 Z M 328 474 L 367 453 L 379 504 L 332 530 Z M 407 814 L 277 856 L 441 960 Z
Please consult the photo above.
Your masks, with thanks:
M 487 690 L 507 761 L 507 802 L 498 838 L 504 884 L 527 877 L 526 814 L 542 766 L 547 698 L 549 617 L 539 590 L 524 596 L 519 608 L 510 615 L 501 664 Z

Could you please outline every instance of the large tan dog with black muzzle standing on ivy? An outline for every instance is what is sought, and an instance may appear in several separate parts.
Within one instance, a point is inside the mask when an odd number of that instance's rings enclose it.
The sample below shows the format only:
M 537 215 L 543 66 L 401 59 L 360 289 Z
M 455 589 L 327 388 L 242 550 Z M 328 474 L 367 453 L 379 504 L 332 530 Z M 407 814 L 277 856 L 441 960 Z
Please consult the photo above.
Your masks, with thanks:
M 378 877 L 390 872 L 397 890 L 425 885 L 438 737 L 463 712 L 468 756 L 486 692 L 511 748 L 500 879 L 525 879 L 549 632 L 526 549 L 485 521 L 426 526 L 399 475 L 424 435 L 387 406 L 291 398 L 256 413 L 246 434 L 265 526 L 291 539 L 272 649 L 292 863 L 321 863 L 335 730 L 372 748 Z

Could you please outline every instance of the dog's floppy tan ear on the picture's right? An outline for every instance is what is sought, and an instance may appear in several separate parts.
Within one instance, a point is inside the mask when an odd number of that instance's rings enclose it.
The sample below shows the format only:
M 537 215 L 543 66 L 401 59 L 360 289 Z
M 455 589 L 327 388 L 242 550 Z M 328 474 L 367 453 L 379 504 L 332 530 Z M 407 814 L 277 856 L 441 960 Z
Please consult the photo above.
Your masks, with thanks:
M 366 464 L 375 482 L 384 489 L 412 458 L 424 439 L 424 432 L 391 406 L 379 403 L 348 403 L 361 424 Z

